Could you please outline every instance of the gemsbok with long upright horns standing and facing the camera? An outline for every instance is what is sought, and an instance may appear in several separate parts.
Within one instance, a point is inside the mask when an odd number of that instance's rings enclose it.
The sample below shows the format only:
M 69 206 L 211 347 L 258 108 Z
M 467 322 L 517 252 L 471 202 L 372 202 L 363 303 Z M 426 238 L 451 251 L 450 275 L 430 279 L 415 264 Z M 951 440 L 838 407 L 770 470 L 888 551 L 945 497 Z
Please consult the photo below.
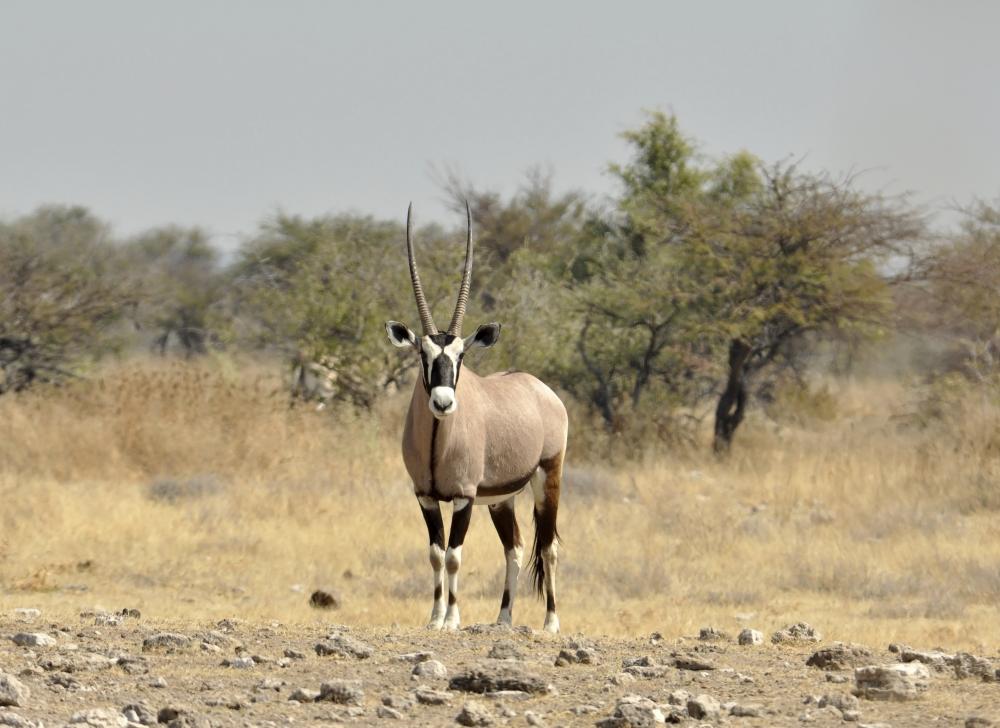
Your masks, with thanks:
M 403 462 L 430 536 L 434 607 L 427 626 L 458 629 L 458 570 L 473 505 L 489 506 L 503 544 L 507 566 L 497 623 L 512 623 L 524 551 L 514 497 L 530 483 L 534 495 L 535 588 L 539 596 L 545 596 L 544 629 L 558 632 L 556 513 L 569 425 L 566 408 L 555 392 L 530 374 L 503 372 L 480 377 L 463 369 L 467 351 L 493 346 L 500 336 L 500 324 L 490 323 L 462 338 L 472 282 L 472 215 L 466 203 L 465 270 L 451 324 L 441 333 L 434 325 L 417 274 L 412 210 L 411 204 L 406 213 L 406 252 L 423 336 L 398 321 L 387 321 L 385 329 L 395 346 L 411 348 L 420 355 L 420 378 L 414 385 L 403 429 Z M 454 506 L 447 548 L 441 501 L 451 501 Z

